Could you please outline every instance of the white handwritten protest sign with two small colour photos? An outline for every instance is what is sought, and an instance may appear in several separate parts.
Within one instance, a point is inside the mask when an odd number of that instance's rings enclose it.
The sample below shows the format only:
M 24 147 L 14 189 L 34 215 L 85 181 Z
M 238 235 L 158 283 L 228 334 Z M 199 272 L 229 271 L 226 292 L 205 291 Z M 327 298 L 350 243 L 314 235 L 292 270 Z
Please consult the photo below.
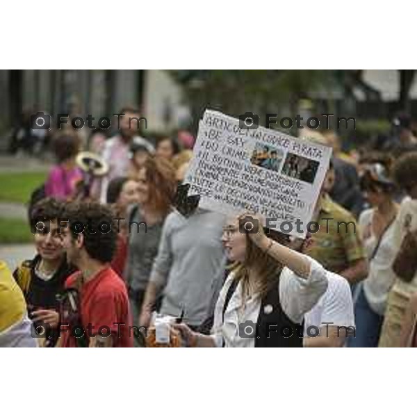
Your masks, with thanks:
M 306 235 L 331 148 L 206 111 L 193 153 L 185 182 L 189 196 L 199 195 L 199 207 L 260 213 L 271 229 Z

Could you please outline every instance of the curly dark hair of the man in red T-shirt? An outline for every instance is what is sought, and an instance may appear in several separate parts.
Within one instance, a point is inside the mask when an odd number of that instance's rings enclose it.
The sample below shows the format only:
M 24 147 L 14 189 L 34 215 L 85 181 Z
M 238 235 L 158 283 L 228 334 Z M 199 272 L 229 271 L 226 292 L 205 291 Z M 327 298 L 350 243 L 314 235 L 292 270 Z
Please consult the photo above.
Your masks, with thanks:
M 65 206 L 63 218 L 75 240 L 83 234 L 84 247 L 92 259 L 111 262 L 117 245 L 117 223 L 109 206 L 97 202 L 72 202 Z

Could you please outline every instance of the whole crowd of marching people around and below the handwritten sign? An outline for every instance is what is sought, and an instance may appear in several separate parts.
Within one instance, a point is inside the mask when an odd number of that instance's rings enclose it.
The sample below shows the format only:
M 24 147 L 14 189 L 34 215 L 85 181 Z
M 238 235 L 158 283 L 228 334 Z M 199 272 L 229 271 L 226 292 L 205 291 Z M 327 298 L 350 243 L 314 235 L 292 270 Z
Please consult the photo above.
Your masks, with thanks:
M 310 138 L 333 156 L 320 227 L 300 239 L 245 233 L 248 215 L 265 225 L 256 213 L 182 215 L 194 141 L 142 138 L 138 110 L 121 113 L 115 136 L 88 140 L 108 170 L 87 196 L 82 141 L 52 140 L 56 165 L 29 209 L 37 254 L 13 272 L 0 263 L 0 346 L 143 346 L 167 317 L 167 345 L 417 347 L 417 149 L 404 117 L 401 152 L 347 155 L 334 131 Z

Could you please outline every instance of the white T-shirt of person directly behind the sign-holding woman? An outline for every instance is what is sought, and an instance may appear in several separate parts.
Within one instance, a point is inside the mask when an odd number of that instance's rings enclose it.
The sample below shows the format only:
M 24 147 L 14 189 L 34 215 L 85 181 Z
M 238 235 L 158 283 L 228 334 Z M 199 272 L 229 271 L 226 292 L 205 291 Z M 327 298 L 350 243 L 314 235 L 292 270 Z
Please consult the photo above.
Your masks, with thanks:
M 312 326 L 316 326 L 318 329 L 325 327 L 324 332 L 320 332 L 322 336 L 326 336 L 327 326 L 354 327 L 352 291 L 349 283 L 341 275 L 330 271 L 326 271 L 326 273 L 329 284 L 325 294 L 304 316 L 304 336 L 315 334 L 315 329 L 311 328 Z

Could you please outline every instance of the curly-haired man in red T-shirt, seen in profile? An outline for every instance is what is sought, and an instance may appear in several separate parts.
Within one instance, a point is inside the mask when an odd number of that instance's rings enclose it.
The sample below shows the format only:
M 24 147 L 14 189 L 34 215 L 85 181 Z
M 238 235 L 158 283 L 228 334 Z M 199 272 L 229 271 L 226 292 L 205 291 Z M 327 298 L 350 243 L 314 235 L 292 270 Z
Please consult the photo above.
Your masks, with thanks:
M 110 264 L 117 242 L 111 208 L 74 202 L 60 225 L 67 261 L 79 272 L 65 283 L 72 298 L 62 303 L 58 346 L 133 347 L 126 286 Z

